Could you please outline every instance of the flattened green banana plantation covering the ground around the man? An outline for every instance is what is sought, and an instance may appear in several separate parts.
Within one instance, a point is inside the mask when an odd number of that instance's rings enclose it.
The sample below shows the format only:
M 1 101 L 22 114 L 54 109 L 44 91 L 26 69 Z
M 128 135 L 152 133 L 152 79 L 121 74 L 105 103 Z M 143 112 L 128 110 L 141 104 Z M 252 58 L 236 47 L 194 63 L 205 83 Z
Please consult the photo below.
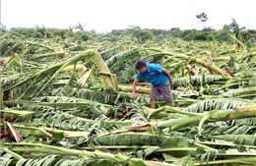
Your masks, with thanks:
M 2 30 L 1 166 L 256 163 L 255 37 L 132 29 Z M 139 59 L 169 71 L 175 107 L 151 108 L 145 80 L 130 98 Z

